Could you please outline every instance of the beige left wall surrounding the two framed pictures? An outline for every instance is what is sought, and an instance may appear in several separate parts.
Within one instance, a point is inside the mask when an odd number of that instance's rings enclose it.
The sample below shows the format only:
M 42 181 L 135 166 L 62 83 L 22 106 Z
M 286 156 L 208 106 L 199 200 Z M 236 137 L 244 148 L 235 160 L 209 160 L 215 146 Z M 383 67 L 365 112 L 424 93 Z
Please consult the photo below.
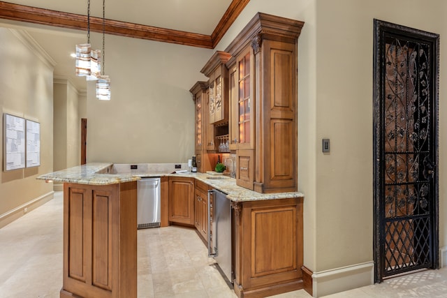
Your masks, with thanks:
M 49 57 L 38 52 L 27 34 L 0 28 L 1 112 L 41 123 L 41 166 L 0 172 L 0 217 L 30 200 L 52 192 L 52 184 L 36 180 L 53 168 L 53 86 Z M 3 142 L 3 121 L 0 131 Z M 3 156 L 3 146 L 0 147 Z

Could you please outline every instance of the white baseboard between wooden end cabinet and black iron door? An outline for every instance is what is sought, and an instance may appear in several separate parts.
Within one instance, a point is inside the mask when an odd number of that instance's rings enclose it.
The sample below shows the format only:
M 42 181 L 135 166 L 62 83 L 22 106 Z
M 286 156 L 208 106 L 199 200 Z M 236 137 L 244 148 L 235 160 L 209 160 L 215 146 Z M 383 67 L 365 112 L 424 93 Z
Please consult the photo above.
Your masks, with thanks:
M 312 274 L 314 297 L 374 284 L 374 262 L 365 262 Z

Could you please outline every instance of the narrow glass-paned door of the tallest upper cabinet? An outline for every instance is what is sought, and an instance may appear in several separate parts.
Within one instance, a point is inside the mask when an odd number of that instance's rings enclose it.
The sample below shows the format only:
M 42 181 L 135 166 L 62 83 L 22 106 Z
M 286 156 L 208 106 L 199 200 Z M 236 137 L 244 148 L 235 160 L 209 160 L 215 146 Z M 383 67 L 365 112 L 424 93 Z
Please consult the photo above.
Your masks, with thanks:
M 254 149 L 254 57 L 251 47 L 237 57 L 237 149 Z

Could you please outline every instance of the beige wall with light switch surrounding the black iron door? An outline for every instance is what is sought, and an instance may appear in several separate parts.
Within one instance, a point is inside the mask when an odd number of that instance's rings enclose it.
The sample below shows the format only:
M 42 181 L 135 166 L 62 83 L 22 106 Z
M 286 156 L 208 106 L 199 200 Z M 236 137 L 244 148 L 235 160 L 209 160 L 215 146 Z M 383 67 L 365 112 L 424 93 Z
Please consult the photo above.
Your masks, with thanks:
M 442 0 L 316 1 L 316 266 L 323 271 L 372 260 L 373 19 L 446 35 Z M 439 88 L 440 246 L 446 246 L 447 119 L 441 37 Z M 300 73 L 302 77 L 303 73 Z M 302 111 L 303 112 L 303 111 Z M 331 152 L 321 153 L 321 139 Z M 306 174 L 306 173 L 300 173 Z M 306 195 L 308 195 L 306 193 Z

